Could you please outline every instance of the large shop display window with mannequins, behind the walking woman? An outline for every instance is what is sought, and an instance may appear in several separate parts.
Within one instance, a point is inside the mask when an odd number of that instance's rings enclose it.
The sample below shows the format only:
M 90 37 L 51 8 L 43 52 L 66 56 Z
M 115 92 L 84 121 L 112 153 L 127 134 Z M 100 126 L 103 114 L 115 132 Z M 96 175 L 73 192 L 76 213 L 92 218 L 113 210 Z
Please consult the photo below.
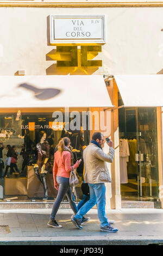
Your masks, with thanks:
M 57 125 L 54 121 L 52 113 L 28 114 L 18 110 L 0 115 L 2 200 L 51 200 L 57 196 L 53 182 L 54 153 L 63 137 L 71 140 L 74 162 L 82 159 L 77 168 L 82 182 L 83 150 L 89 144 L 89 131 L 83 130 L 82 120 L 78 130 L 66 130 L 64 121 Z M 77 190 L 78 196 L 82 196 L 80 187 Z

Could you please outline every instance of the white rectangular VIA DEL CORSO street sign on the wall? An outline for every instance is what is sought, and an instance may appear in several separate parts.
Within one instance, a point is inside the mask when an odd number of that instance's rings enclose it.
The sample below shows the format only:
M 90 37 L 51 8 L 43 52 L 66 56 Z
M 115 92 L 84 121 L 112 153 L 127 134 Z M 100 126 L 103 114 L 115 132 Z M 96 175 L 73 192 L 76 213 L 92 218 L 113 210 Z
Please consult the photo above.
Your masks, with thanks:
M 50 17 L 51 44 L 105 42 L 104 15 Z

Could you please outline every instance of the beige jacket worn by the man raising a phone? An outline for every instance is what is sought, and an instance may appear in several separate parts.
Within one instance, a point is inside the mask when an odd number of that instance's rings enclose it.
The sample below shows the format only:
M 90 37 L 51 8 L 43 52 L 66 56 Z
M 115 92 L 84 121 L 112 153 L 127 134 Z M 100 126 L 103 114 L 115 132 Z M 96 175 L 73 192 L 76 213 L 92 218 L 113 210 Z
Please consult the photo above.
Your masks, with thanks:
M 84 182 L 92 184 L 104 183 L 100 179 L 100 173 L 108 171 L 106 162 L 113 162 L 114 148 L 110 147 L 109 153 L 105 154 L 97 145 L 90 143 L 83 151 L 83 159 L 85 166 Z

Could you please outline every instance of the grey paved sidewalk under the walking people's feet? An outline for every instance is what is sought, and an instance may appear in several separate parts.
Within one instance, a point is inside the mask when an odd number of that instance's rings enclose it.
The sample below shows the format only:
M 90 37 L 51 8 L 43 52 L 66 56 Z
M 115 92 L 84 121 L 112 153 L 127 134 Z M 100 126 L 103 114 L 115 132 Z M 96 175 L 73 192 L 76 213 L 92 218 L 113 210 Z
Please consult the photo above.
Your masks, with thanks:
M 56 220 L 62 228 L 47 226 L 51 209 L 1 209 L 0 245 L 149 245 L 163 244 L 162 209 L 108 210 L 117 233 L 99 231 L 97 210 L 91 220 L 77 229 L 70 221 L 71 210 L 59 210 Z M 4 227 L 4 225 L 6 225 Z M 9 233 L 10 232 L 10 233 Z

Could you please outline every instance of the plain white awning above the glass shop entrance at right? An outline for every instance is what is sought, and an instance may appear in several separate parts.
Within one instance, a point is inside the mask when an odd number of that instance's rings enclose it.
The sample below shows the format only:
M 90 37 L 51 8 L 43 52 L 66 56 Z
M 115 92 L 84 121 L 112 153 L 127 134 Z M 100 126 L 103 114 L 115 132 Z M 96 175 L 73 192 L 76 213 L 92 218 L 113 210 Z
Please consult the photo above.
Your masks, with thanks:
M 163 75 L 115 75 L 125 107 L 163 106 Z

